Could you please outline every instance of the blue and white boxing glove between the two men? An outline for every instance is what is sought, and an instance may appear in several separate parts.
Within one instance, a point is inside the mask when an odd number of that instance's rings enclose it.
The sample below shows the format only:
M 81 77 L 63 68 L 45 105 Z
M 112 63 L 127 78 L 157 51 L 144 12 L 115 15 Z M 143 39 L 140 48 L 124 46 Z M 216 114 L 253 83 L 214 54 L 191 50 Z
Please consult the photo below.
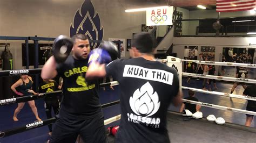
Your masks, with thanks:
M 103 48 L 96 48 L 96 49 L 93 49 L 89 54 L 88 66 L 90 66 L 92 62 L 98 62 L 100 64 L 103 64 L 103 63 L 109 63 L 111 61 L 112 60 L 109 52 L 107 52 Z

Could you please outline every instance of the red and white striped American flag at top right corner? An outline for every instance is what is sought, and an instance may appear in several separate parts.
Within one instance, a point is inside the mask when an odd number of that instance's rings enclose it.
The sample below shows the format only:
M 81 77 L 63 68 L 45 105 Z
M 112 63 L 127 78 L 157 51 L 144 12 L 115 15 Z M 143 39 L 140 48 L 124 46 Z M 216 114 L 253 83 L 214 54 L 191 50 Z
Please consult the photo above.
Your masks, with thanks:
M 256 0 L 216 0 L 217 12 L 252 10 L 255 7 Z

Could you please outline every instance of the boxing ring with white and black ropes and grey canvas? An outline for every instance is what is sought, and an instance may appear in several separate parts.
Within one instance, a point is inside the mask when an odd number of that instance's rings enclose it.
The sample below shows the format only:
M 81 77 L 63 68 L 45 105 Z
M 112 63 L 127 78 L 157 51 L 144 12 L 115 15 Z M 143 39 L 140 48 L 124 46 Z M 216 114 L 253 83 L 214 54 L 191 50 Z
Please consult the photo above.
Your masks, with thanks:
M 160 60 L 161 62 L 169 62 L 168 60 Z M 210 61 L 194 61 L 194 60 L 180 60 L 182 61 L 193 61 L 199 64 L 205 65 L 218 65 L 218 66 L 240 66 L 240 67 L 250 67 L 255 68 L 256 65 L 253 64 L 245 64 L 245 63 L 231 63 L 231 62 L 210 62 Z M 182 66 L 181 66 L 182 67 Z M 182 71 L 182 70 L 180 70 Z M 41 69 L 24 69 L 24 70 L 5 70 L 0 71 L 0 76 L 18 76 L 18 75 L 30 75 L 30 74 L 39 74 L 41 73 Z M 245 83 L 256 83 L 256 80 L 246 79 L 242 80 L 241 78 L 234 77 L 225 77 L 225 76 L 212 76 L 212 75 L 203 75 L 203 74 L 191 74 L 191 73 L 179 73 L 178 75 L 183 76 L 192 76 L 192 77 L 200 77 L 200 78 L 212 78 L 216 80 L 224 80 L 224 81 L 239 81 Z M 181 81 L 181 80 L 180 80 Z M 117 81 L 103 83 L 100 84 L 100 87 L 109 87 L 118 85 Z M 228 98 L 238 98 L 238 99 L 246 99 L 256 101 L 255 97 L 250 96 L 241 96 L 235 94 L 228 94 L 225 92 L 218 91 L 209 91 L 202 90 L 191 87 L 181 87 L 183 90 L 189 89 L 196 92 L 201 92 L 204 94 L 214 95 L 214 96 L 223 96 Z M 19 102 L 32 101 L 37 99 L 43 99 L 46 96 L 58 95 L 62 94 L 62 91 L 54 91 L 48 92 L 39 95 L 31 95 L 31 96 L 23 96 L 17 98 L 3 99 L 0 101 L 0 106 L 14 104 Z M 220 106 L 211 103 L 204 102 L 194 102 L 183 99 L 183 102 L 197 104 L 201 106 L 206 106 L 207 108 L 214 108 L 219 110 L 224 110 L 226 112 L 239 112 L 239 113 L 248 113 L 250 115 L 255 115 L 256 112 L 246 111 L 242 109 L 231 108 L 228 106 Z M 108 108 L 113 105 L 117 105 L 119 101 L 114 101 L 110 103 L 106 103 L 102 105 L 102 108 Z M 108 125 L 117 121 L 121 118 L 121 115 L 117 115 L 104 120 L 104 124 Z M 32 130 L 34 128 L 39 128 L 42 126 L 46 126 L 48 124 L 54 123 L 56 118 L 46 119 L 42 121 L 31 122 L 29 124 L 10 128 L 9 130 L 1 131 L 0 129 L 0 142 L 1 138 L 11 138 L 11 135 L 22 133 L 25 131 Z M 256 137 L 256 129 L 253 127 L 246 127 L 242 125 L 237 125 L 233 123 L 225 123 L 224 125 L 217 125 L 213 122 L 207 121 L 205 116 L 203 119 L 192 119 L 190 117 L 183 117 L 178 112 L 169 111 L 167 113 L 167 128 L 169 130 L 170 140 L 172 142 L 254 142 Z M 113 142 L 113 137 L 109 136 L 109 141 Z

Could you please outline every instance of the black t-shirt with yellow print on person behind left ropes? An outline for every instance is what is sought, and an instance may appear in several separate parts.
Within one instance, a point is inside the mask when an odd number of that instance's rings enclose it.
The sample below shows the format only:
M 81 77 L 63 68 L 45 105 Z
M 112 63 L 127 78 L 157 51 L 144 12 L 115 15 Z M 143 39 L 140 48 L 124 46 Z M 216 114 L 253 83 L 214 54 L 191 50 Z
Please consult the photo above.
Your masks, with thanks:
M 38 92 L 39 93 L 45 93 L 45 92 L 53 92 L 53 91 L 57 91 L 59 85 L 57 84 L 56 81 L 49 81 L 49 82 L 42 82 L 38 85 Z M 53 96 L 47 96 L 45 99 L 57 99 L 57 96 L 53 95 Z

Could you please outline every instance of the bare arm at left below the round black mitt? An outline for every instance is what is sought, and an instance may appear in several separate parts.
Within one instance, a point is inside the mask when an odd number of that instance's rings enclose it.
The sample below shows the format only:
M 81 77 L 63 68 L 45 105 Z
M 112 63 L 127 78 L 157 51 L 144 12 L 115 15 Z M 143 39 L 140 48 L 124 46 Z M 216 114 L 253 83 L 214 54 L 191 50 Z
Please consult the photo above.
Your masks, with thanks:
M 44 80 L 50 80 L 54 78 L 58 73 L 56 70 L 57 62 L 55 61 L 55 58 L 51 56 L 48 61 L 44 64 L 41 72 L 41 77 Z

